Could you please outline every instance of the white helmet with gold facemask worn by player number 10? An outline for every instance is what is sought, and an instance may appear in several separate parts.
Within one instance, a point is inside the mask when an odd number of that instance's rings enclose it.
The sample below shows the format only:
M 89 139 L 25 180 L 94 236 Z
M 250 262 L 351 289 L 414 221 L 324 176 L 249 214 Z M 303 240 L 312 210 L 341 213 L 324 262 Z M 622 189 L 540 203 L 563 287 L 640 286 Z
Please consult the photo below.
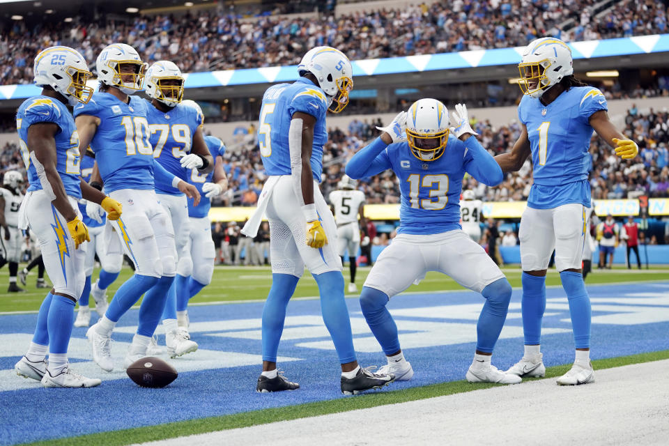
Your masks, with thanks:
M 125 65 L 133 66 L 132 72 L 121 72 L 121 67 Z M 132 95 L 141 90 L 144 84 L 146 65 L 141 61 L 137 50 L 125 43 L 108 45 L 105 49 L 102 49 L 95 61 L 98 80 L 102 84 L 116 87 L 127 95 Z M 130 77 L 130 80 L 123 80 L 124 77 Z

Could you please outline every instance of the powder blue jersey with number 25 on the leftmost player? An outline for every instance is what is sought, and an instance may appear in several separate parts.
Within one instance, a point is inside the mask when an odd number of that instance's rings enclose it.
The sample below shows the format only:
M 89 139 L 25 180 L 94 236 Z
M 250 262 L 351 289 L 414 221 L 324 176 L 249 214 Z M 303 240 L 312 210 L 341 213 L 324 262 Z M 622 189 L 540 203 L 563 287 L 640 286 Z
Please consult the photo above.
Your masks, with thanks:
M 38 95 L 23 102 L 16 114 L 16 129 L 19 133 L 21 155 L 28 171 L 28 191 L 42 190 L 42 183 L 29 156 L 28 129 L 33 124 L 54 123 L 58 125 L 56 141 L 56 170 L 61 176 L 65 192 L 70 197 L 81 198 L 79 180 L 79 134 L 70 110 L 63 102 Z

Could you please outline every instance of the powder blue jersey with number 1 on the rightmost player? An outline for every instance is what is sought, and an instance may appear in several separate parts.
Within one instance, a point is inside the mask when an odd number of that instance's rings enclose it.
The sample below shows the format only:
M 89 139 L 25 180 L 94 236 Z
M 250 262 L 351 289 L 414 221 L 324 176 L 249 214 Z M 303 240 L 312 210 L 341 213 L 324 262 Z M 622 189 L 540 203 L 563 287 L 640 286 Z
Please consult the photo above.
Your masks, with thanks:
M 567 203 L 590 206 L 590 116 L 606 110 L 606 98 L 591 86 L 572 87 L 550 104 L 523 96 L 518 118 L 528 128 L 534 184 L 528 206 L 556 208 Z

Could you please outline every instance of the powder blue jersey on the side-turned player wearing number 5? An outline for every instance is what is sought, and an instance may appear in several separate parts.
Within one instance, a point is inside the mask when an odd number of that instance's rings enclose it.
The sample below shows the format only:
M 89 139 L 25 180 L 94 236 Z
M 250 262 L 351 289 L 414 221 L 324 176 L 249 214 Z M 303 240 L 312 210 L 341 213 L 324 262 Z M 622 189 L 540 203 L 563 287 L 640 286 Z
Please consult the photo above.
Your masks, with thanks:
M 323 90 L 305 77 L 300 77 L 293 84 L 270 86 L 263 95 L 258 144 L 266 174 L 291 174 L 288 133 L 295 112 L 302 112 L 316 118 L 311 164 L 314 179 L 321 183 L 323 145 L 328 141 L 328 132 L 325 130 L 328 99 Z M 296 156 L 300 155 L 300 153 L 296 154 Z

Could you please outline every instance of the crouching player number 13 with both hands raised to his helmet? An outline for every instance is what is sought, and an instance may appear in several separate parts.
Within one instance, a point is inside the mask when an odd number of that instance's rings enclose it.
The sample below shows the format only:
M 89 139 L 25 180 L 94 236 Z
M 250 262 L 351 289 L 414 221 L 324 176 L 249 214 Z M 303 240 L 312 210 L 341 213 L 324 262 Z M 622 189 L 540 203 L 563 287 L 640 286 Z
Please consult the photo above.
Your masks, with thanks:
M 477 344 L 466 378 L 472 383 L 520 383 L 491 364 L 491 355 L 507 317 L 511 285 L 500 268 L 460 226 L 462 178 L 497 185 L 502 170 L 473 136 L 465 105 L 456 105 L 449 128 L 445 105 L 421 99 L 400 112 L 369 146 L 346 164 L 351 178 L 367 178 L 392 169 L 399 178 L 399 229 L 371 268 L 360 294 L 367 324 L 383 348 L 387 364 L 380 373 L 409 380 L 413 368 L 404 357 L 397 325 L 386 305 L 428 271 L 440 271 L 486 302 L 477 324 Z

